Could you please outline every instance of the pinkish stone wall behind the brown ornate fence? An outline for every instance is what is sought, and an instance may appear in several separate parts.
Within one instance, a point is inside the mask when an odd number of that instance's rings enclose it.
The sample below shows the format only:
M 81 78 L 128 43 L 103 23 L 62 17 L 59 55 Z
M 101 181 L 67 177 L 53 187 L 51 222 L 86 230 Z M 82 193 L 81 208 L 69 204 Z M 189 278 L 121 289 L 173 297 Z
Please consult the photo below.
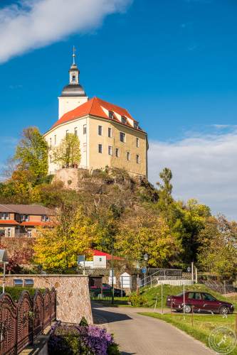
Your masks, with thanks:
M 57 292 L 57 320 L 79 323 L 82 317 L 93 324 L 88 276 L 86 275 L 6 275 L 6 285 L 14 279 L 33 279 L 34 288 L 52 288 Z M 1 280 L 2 281 L 2 280 Z

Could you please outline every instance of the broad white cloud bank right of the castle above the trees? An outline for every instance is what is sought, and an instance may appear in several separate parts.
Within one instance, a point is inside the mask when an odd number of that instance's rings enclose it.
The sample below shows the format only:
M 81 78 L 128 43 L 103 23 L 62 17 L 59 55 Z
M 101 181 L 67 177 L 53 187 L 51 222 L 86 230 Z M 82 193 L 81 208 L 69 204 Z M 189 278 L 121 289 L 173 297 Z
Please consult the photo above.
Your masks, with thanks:
M 208 204 L 214 214 L 237 219 L 237 131 L 226 134 L 190 136 L 177 142 L 149 143 L 149 180 L 171 168 L 174 196 L 195 197 Z

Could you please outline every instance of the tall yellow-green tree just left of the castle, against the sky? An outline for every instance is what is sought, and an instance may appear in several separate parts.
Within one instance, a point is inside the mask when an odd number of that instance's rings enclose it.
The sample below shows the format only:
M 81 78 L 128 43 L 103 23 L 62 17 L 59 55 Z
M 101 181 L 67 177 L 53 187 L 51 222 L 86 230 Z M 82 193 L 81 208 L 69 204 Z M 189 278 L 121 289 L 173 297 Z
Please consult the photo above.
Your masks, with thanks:
M 36 127 L 23 129 L 22 136 L 14 155 L 17 170 L 28 171 L 37 183 L 48 174 L 48 146 Z

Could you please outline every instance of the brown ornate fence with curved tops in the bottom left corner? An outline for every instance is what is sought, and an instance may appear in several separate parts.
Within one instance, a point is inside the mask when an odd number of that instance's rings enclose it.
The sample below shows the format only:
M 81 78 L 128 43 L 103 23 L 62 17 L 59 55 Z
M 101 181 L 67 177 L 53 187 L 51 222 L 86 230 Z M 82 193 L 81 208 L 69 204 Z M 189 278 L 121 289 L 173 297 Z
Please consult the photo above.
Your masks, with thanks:
M 56 290 L 36 290 L 33 298 L 23 291 L 19 302 L 0 295 L 0 354 L 17 355 L 56 319 Z

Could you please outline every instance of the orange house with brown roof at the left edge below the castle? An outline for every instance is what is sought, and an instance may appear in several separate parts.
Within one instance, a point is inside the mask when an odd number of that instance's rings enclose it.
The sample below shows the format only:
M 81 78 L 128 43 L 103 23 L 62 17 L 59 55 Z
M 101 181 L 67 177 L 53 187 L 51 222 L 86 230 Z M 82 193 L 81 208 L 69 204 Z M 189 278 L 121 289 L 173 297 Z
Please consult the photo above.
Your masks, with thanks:
M 50 209 L 30 204 L 0 204 L 0 238 L 20 238 L 36 235 L 38 226 L 49 226 Z

